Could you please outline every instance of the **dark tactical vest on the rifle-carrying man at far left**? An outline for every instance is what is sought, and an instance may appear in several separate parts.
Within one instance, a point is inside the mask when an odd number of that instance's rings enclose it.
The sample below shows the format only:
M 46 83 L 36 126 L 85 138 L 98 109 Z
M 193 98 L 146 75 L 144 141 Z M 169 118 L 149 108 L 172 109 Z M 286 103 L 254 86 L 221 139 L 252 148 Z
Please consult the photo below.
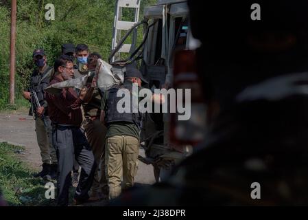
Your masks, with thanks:
M 52 67 L 47 66 L 45 71 L 42 74 L 38 73 L 38 69 L 34 70 L 31 76 L 31 85 L 29 87 L 29 91 L 35 91 L 36 96 L 38 96 L 38 101 L 42 104 L 44 98 L 44 89 L 49 84 L 50 76 L 45 76 L 49 71 L 51 71 Z M 45 76 L 45 77 L 44 77 Z

